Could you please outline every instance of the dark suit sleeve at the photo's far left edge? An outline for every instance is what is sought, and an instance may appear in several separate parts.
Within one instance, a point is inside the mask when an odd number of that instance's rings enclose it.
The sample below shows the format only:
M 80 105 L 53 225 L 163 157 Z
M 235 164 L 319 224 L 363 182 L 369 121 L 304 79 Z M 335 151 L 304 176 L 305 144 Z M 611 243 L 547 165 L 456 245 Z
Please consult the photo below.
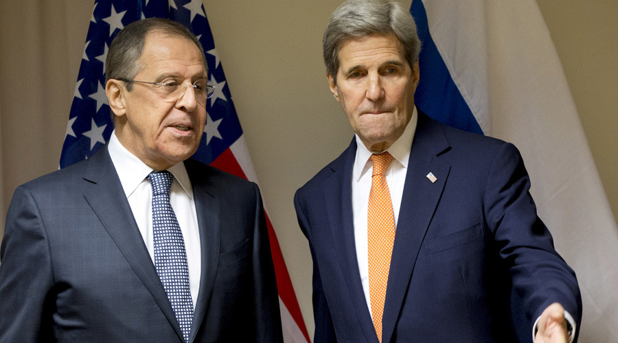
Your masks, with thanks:
M 45 222 L 24 186 L 11 200 L 0 246 L 0 342 L 52 337 L 54 287 Z

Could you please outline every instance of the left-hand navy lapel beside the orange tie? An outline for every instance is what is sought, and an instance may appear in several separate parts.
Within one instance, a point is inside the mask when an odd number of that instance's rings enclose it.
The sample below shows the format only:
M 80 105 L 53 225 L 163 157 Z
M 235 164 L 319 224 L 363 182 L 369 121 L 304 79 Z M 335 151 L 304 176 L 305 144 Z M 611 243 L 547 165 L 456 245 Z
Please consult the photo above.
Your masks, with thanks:
M 356 140 L 331 165 L 333 174 L 325 180 L 323 193 L 326 211 L 334 247 L 332 261 L 339 261 L 339 267 L 345 278 L 347 289 L 352 294 L 353 309 L 358 317 L 358 324 L 363 328 L 367 342 L 376 341 L 376 331 L 367 308 L 365 292 L 361 284 L 356 258 L 354 240 L 354 218 L 352 215 L 352 167 L 356 157 Z

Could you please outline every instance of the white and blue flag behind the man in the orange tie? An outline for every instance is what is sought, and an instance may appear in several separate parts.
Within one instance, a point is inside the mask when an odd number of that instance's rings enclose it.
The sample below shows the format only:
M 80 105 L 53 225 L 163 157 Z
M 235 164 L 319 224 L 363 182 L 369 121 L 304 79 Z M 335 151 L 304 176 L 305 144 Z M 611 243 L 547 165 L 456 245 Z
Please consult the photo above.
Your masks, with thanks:
M 581 342 L 618 342 L 618 227 L 549 30 L 534 0 L 413 0 L 415 104 L 514 143 L 556 249 L 582 290 Z

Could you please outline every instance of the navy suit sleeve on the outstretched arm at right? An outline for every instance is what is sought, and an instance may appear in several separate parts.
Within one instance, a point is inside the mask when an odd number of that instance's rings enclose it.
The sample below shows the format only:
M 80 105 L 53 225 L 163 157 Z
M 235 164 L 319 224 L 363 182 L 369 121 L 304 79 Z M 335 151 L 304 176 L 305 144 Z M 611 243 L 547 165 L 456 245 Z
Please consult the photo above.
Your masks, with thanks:
M 501 147 L 489 175 L 485 216 L 527 317 L 534 322 L 546 307 L 557 302 L 569 311 L 579 328 L 582 299 L 575 272 L 558 255 L 549 230 L 536 214 L 529 176 L 514 145 Z

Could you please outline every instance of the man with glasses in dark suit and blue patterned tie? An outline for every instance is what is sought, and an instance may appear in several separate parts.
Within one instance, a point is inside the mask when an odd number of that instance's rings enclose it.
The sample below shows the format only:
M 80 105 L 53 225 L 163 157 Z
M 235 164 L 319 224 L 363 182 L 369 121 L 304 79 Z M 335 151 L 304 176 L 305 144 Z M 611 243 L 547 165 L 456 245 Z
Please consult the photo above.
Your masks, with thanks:
M 111 141 L 12 198 L 0 342 L 281 342 L 257 185 L 187 160 L 212 91 L 199 41 L 137 21 L 106 75 Z

